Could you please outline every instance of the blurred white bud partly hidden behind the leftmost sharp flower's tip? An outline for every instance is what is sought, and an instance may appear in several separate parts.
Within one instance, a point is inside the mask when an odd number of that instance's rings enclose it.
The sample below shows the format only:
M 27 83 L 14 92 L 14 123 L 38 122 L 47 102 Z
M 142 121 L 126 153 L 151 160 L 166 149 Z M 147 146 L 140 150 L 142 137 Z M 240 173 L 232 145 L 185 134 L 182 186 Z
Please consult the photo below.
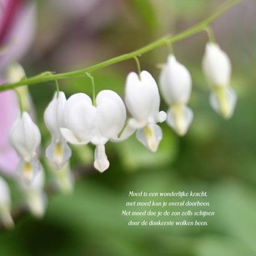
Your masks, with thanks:
M 47 197 L 44 192 L 44 170 L 34 177 L 31 183 L 27 184 L 20 180 L 21 189 L 24 192 L 27 207 L 32 215 L 40 218 L 44 215 L 47 205 Z

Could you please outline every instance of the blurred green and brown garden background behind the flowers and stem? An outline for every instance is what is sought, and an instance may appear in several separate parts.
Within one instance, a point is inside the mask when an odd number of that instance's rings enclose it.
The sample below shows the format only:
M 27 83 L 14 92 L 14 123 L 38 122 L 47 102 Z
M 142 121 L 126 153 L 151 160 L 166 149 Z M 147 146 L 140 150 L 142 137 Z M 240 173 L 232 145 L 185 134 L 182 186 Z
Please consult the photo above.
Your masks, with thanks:
M 91 66 L 187 29 L 223 2 L 39 0 L 36 36 L 21 64 L 27 76 Z M 209 105 L 209 86 L 201 71 L 206 33 L 175 43 L 175 56 L 193 79 L 189 106 L 195 119 L 188 134 L 177 137 L 162 124 L 164 139 L 155 154 L 135 136 L 120 144 L 108 143 L 111 167 L 103 174 L 92 168 L 91 146 L 73 147 L 71 168 L 84 177 L 72 194 L 49 197 L 43 219 L 22 215 L 14 230 L 2 230 L 0 255 L 256 255 L 255 13 L 255 0 L 244 0 L 212 24 L 233 65 L 232 86 L 238 102 L 232 119 L 225 121 Z M 144 54 L 142 69 L 158 80 L 158 64 L 166 61 L 167 54 L 165 46 Z M 93 72 L 96 91 L 112 89 L 123 97 L 130 71 L 136 71 L 134 60 Z M 59 85 L 67 97 L 75 92 L 92 94 L 87 77 L 62 80 Z M 53 82 L 29 87 L 42 133 L 42 152 L 50 140 L 43 113 L 54 89 Z M 166 109 L 163 102 L 161 110 Z M 129 190 L 205 190 L 215 216 L 205 217 L 207 227 L 128 227 L 130 219 L 139 219 L 121 217 Z M 15 207 L 18 195 L 12 197 Z M 172 218 L 183 219 L 194 217 Z

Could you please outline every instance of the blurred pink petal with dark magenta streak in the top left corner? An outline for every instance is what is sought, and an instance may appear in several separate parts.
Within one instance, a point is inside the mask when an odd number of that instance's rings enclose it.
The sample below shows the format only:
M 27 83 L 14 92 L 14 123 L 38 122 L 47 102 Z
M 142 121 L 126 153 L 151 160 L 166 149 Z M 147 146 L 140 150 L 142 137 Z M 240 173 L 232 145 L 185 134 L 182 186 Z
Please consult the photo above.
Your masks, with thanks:
M 0 0 L 0 74 L 20 61 L 31 47 L 36 31 L 34 1 Z

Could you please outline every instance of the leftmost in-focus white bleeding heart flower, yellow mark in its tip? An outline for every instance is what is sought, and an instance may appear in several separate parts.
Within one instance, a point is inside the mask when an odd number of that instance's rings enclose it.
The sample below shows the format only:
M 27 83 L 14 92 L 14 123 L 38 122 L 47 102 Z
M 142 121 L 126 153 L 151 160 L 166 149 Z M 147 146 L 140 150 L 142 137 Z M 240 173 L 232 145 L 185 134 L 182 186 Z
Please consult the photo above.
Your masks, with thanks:
M 17 173 L 26 182 L 31 182 L 41 169 L 37 159 L 37 149 L 41 142 L 41 134 L 27 112 L 22 113 L 9 131 L 9 143 L 19 155 Z

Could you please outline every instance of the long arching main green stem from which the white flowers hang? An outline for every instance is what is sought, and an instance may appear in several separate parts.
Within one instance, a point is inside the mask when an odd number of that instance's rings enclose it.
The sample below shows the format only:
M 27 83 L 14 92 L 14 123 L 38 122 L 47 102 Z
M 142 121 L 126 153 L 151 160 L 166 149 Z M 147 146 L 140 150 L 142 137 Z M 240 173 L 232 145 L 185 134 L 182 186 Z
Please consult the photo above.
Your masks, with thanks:
M 163 46 L 164 44 L 180 41 L 200 31 L 203 31 L 205 27 L 208 27 L 210 23 L 212 23 L 213 21 L 215 21 L 215 19 L 217 19 L 217 17 L 219 17 L 221 14 L 227 11 L 227 9 L 234 6 L 235 4 L 238 4 L 239 2 L 240 0 L 227 1 L 225 4 L 223 4 L 220 7 L 218 11 L 216 11 L 214 14 L 212 14 L 210 17 L 200 22 L 199 24 L 196 24 L 195 26 L 192 26 L 189 29 L 183 32 L 180 32 L 175 36 L 164 36 L 158 39 L 157 41 L 147 44 L 147 46 L 141 47 L 136 51 L 133 51 L 127 54 L 122 54 L 121 56 L 114 57 L 107 61 L 103 61 L 99 64 L 95 64 L 93 66 L 86 67 L 85 69 L 81 69 L 78 71 L 66 72 L 61 74 L 55 74 L 54 72 L 44 72 L 37 76 L 33 76 L 28 79 L 23 79 L 22 81 L 19 81 L 19 82 L 14 82 L 11 84 L 3 84 L 2 86 L 0 86 L 0 92 L 14 89 L 19 86 L 24 86 L 24 84 L 26 84 L 27 86 L 31 86 L 32 84 L 39 84 L 41 82 L 53 81 L 57 79 L 66 79 L 66 78 L 77 77 L 77 76 L 84 76 L 86 72 L 96 71 L 97 69 L 102 69 L 103 67 L 111 66 L 112 64 L 116 64 L 118 62 L 126 61 L 136 56 L 140 56 L 146 52 L 154 50 L 157 47 Z

